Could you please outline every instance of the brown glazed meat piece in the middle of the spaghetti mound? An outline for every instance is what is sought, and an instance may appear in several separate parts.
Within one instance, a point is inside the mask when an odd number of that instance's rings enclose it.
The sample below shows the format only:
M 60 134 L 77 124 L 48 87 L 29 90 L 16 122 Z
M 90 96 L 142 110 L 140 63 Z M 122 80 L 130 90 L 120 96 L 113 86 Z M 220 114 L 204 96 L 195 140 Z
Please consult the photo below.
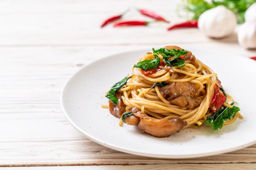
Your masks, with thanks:
M 189 82 L 171 83 L 159 88 L 162 96 L 173 105 L 194 109 L 202 102 L 202 99 L 195 98 L 198 88 Z

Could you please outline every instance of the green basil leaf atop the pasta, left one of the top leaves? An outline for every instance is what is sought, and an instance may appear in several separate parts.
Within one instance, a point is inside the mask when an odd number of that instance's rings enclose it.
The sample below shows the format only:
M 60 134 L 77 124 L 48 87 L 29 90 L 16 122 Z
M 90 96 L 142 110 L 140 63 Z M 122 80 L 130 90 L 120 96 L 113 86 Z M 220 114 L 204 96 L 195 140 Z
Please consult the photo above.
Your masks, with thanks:
M 141 68 L 143 70 L 147 70 L 150 68 L 158 68 L 158 65 L 160 63 L 160 58 L 157 55 L 154 55 L 155 59 L 147 59 L 147 60 L 143 60 L 138 62 L 137 64 L 135 64 L 133 67 L 135 68 Z

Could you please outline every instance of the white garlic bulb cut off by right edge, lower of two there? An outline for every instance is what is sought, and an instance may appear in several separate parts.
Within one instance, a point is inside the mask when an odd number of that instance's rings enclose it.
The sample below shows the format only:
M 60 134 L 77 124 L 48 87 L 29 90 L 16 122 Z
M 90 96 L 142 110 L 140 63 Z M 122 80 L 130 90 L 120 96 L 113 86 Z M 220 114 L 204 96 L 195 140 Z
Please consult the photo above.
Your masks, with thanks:
M 238 43 L 244 48 L 256 48 L 256 21 L 247 21 L 240 26 Z

